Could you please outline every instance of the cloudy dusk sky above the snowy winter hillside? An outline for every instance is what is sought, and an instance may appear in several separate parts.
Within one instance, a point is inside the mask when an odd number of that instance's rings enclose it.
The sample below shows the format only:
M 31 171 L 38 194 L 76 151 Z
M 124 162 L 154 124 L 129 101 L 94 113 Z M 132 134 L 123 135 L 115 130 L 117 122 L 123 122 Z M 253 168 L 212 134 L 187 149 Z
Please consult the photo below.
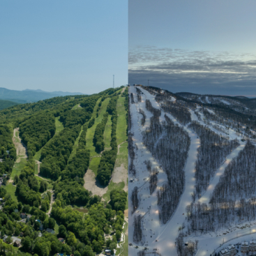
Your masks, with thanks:
M 129 0 L 129 83 L 256 96 L 255 10 L 253 0 Z

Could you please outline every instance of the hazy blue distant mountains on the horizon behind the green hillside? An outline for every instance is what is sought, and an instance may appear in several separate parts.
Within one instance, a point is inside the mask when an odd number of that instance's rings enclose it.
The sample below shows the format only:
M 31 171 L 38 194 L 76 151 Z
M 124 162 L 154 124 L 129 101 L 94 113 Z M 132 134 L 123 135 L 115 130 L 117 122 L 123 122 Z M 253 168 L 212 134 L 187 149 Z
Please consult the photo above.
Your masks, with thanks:
M 68 91 L 42 91 L 26 89 L 23 91 L 9 90 L 0 87 L 0 100 L 11 100 L 15 103 L 35 103 L 38 100 L 46 100 L 57 96 L 82 95 L 84 93 L 70 93 Z

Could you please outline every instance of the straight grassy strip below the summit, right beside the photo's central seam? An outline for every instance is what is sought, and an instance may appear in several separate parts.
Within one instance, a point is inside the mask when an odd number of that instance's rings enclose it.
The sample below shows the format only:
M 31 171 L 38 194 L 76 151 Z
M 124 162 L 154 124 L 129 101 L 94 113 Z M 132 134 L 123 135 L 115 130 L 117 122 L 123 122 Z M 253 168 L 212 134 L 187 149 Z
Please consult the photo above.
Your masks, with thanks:
M 124 107 L 124 101 L 126 98 L 119 97 L 116 104 L 116 110 L 118 114 L 117 123 L 116 123 L 116 142 L 121 144 L 127 140 L 126 136 L 126 109 Z

